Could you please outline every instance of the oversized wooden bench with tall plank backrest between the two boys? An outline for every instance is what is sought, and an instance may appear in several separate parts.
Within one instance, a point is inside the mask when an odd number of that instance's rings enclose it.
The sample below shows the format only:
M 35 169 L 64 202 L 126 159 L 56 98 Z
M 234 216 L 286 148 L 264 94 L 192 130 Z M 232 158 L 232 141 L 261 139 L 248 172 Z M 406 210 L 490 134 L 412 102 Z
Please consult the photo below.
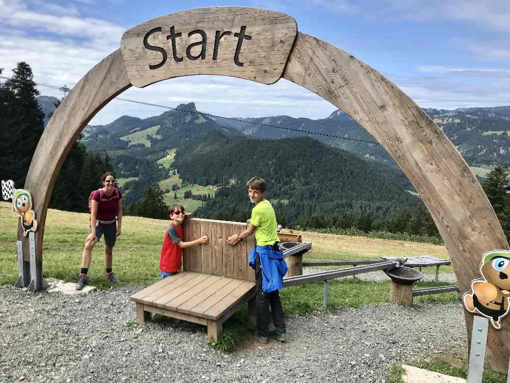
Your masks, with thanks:
M 166 277 L 131 296 L 138 323 L 150 320 L 150 313 L 207 326 L 209 339 L 216 342 L 223 322 L 248 302 L 249 321 L 254 325 L 255 273 L 248 265 L 254 236 L 236 246 L 228 235 L 246 229 L 241 222 L 191 218 L 187 214 L 184 241 L 209 236 L 207 245 L 183 249 L 183 271 Z

